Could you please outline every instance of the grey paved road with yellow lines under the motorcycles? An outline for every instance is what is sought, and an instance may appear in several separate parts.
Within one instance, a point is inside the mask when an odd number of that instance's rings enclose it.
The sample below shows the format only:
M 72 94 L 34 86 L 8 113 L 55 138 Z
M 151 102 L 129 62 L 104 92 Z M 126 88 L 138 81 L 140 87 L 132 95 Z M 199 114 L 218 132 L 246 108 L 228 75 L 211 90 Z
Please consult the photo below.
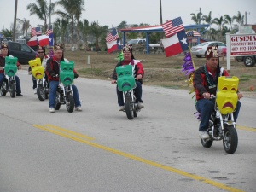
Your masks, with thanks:
M 255 191 L 255 98 L 241 100 L 239 144 L 203 148 L 187 90 L 143 86 L 128 120 L 109 81 L 75 79 L 83 112 L 49 113 L 20 71 L 24 97 L 0 97 L 0 191 Z

